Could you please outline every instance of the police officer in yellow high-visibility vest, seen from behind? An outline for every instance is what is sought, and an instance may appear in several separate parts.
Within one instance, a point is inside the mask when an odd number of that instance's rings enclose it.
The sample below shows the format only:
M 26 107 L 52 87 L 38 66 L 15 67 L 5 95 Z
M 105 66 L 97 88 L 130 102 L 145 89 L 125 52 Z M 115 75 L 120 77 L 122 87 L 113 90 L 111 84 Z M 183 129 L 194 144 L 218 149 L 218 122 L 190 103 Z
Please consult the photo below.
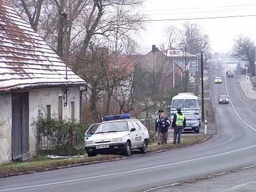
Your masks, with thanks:
M 178 144 L 180 144 L 180 137 L 183 128 L 186 127 L 186 118 L 185 115 L 182 114 L 181 108 L 176 108 L 177 113 L 174 114 L 173 121 L 172 121 L 172 129 L 174 129 L 173 132 L 173 144 L 176 144 L 177 135 L 178 135 Z

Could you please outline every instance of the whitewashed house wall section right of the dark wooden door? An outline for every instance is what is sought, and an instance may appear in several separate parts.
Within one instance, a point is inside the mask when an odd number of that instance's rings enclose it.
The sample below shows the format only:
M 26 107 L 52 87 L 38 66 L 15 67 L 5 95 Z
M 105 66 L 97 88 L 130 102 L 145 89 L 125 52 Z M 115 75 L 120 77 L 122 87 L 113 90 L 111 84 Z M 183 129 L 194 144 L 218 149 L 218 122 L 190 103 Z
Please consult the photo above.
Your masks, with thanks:
M 38 130 L 35 122 L 38 119 L 39 112 L 46 114 L 46 105 L 51 105 L 51 117 L 59 117 L 59 96 L 62 96 L 63 119 L 71 119 L 71 102 L 74 102 L 74 118 L 77 121 L 80 118 L 80 89 L 71 87 L 68 90 L 67 105 L 64 106 L 62 88 L 33 90 L 29 92 L 29 151 L 30 155 L 35 155 L 37 150 Z

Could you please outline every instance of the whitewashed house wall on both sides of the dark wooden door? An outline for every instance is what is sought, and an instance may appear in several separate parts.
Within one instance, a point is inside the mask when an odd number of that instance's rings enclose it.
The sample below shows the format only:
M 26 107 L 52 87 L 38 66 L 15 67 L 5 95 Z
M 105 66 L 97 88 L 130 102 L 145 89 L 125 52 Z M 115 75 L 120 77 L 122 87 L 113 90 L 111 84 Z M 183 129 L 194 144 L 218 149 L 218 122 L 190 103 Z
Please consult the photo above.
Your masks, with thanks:
M 62 88 L 44 88 L 29 90 L 29 152 L 36 155 L 38 130 L 35 122 L 38 114 L 46 112 L 46 105 L 51 105 L 51 116 L 59 117 L 59 96 L 63 98 Z M 80 118 L 80 89 L 69 88 L 67 105 L 62 100 L 63 119 L 71 119 L 71 102 L 74 102 L 74 118 Z M 12 161 L 12 93 L 0 94 L 0 165 Z

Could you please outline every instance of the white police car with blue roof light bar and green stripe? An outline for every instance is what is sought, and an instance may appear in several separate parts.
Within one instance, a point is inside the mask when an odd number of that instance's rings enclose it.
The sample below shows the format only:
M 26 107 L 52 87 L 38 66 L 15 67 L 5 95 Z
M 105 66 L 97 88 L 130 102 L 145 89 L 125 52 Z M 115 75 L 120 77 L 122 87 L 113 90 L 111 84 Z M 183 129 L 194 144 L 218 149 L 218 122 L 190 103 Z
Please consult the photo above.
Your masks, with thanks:
M 88 136 L 88 134 L 85 133 Z M 88 157 L 121 152 L 130 156 L 133 149 L 146 154 L 149 133 L 146 127 L 129 114 L 105 116 L 105 121 L 85 140 Z

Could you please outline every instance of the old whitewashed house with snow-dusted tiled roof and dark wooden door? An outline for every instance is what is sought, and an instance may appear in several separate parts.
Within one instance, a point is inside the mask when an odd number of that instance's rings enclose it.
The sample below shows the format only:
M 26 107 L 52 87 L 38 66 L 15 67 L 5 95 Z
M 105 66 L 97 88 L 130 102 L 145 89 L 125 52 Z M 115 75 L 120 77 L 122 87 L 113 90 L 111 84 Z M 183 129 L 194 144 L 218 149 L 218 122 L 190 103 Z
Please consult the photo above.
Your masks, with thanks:
M 39 113 L 80 118 L 74 74 L 6 0 L 0 1 L 0 164 L 37 153 Z

